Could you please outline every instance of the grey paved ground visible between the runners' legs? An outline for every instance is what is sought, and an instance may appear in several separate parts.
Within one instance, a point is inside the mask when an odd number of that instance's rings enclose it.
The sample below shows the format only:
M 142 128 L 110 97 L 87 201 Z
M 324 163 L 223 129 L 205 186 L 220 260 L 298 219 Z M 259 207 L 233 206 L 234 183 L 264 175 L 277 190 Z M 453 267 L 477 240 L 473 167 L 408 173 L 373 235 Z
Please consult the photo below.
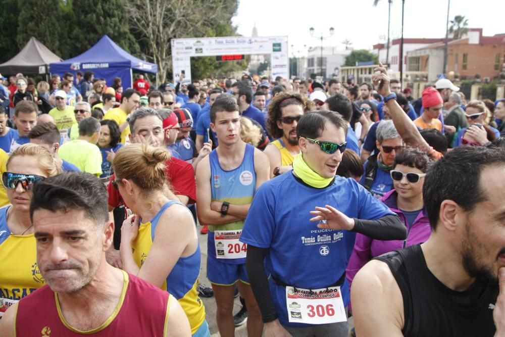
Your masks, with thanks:
M 198 226 L 198 230 L 201 227 Z M 200 267 L 200 282 L 204 283 L 207 286 L 210 286 L 211 283 L 207 279 L 207 234 L 198 234 L 198 239 L 200 242 L 200 250 L 201 250 L 201 267 Z M 211 334 L 213 337 L 219 336 L 218 326 L 216 322 L 216 301 L 214 297 L 209 299 L 203 299 L 205 310 L 207 312 L 207 323 L 209 323 L 209 328 L 211 330 Z M 235 299 L 235 305 L 233 308 L 233 314 L 236 314 L 241 308 L 240 301 L 238 298 Z M 352 325 L 352 317 L 349 318 L 349 325 Z M 239 326 L 235 328 L 235 336 L 236 337 L 246 337 L 247 329 L 246 325 Z M 350 334 L 349 334 L 350 336 Z

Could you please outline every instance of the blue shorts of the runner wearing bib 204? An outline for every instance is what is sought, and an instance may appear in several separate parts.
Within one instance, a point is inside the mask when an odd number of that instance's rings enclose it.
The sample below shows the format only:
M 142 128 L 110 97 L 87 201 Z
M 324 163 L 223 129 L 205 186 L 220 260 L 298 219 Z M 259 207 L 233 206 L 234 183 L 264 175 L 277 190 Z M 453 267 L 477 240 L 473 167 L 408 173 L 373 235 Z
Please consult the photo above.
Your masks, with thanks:
M 221 262 L 213 256 L 207 256 L 207 278 L 216 285 L 233 285 L 238 280 L 249 284 L 245 263 L 232 264 Z

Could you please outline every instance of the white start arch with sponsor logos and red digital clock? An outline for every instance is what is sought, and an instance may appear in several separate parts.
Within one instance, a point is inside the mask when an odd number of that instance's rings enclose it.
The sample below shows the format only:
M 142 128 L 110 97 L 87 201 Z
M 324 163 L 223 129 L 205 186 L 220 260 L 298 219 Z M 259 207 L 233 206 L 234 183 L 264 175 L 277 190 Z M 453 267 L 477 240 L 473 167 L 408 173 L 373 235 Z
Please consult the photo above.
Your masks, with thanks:
M 287 36 L 228 36 L 176 38 L 172 43 L 174 83 L 181 73 L 191 80 L 191 58 L 216 56 L 220 61 L 239 60 L 243 55 L 270 55 L 272 77 L 289 78 Z

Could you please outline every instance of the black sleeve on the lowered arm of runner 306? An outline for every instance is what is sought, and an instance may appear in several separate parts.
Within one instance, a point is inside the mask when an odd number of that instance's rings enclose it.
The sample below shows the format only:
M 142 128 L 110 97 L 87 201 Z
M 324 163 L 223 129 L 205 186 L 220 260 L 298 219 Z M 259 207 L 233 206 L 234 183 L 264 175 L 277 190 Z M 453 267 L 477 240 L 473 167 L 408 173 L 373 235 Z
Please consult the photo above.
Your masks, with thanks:
M 263 263 L 267 253 L 268 248 L 258 248 L 248 245 L 247 256 L 245 258 L 247 275 L 249 275 L 252 293 L 254 293 L 258 307 L 260 307 L 263 323 L 274 321 L 278 317 L 274 302 L 272 301 L 272 295 L 270 294 L 268 277 Z

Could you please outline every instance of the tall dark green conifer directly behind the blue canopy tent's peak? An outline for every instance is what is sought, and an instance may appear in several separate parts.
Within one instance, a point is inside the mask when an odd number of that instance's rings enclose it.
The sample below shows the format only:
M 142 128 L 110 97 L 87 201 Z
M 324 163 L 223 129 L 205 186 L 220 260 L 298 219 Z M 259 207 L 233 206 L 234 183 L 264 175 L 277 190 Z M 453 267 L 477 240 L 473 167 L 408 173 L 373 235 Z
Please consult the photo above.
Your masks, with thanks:
M 78 55 L 108 35 L 131 54 L 139 55 L 137 41 L 130 33 L 124 0 L 77 0 L 72 11 L 77 18 L 71 32 L 73 54 Z

